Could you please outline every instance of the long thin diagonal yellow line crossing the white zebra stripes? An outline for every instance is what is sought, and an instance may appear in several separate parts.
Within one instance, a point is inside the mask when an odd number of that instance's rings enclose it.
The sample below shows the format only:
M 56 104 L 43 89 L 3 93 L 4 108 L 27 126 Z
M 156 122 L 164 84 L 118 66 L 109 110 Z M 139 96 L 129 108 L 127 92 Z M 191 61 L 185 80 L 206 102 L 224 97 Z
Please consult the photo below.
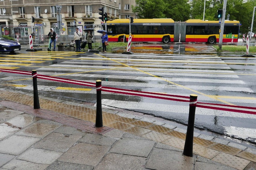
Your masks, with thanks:
M 164 79 L 164 78 L 161 78 L 161 77 L 158 77 L 158 76 L 153 75 L 153 74 L 151 74 L 151 73 L 148 73 L 148 72 L 142 71 L 142 70 L 140 70 L 140 69 L 137 69 L 137 68 L 128 66 L 128 65 L 126 65 L 126 64 L 124 64 L 124 63 L 120 63 L 120 62 L 118 62 L 118 61 L 116 61 L 116 60 L 110 59 L 110 58 L 105 57 L 105 56 L 102 56 L 102 55 L 100 55 L 100 54 L 96 54 L 96 55 L 101 56 L 101 57 L 104 57 L 104 58 L 107 58 L 108 60 L 117 62 L 117 63 L 122 64 L 122 65 L 124 65 L 124 66 L 130 67 L 130 68 L 133 68 L 133 69 L 136 69 L 137 71 L 143 72 L 143 73 L 148 74 L 148 75 L 151 75 L 151 76 L 153 76 L 153 77 L 159 78 L 159 79 L 161 79 L 161 80 L 163 80 L 163 81 L 166 81 L 166 82 L 168 82 L 168 83 L 170 83 L 170 84 L 174 84 L 174 85 L 179 86 L 179 87 L 181 87 L 181 88 L 190 90 L 190 91 L 192 91 L 192 92 L 196 92 L 196 93 L 198 93 L 198 94 L 200 94 L 200 95 L 204 95 L 204 96 L 209 97 L 209 98 L 214 98 L 215 100 L 218 100 L 218 101 L 223 102 L 223 103 L 225 103 L 225 104 L 234 105 L 234 104 L 229 103 L 229 102 L 227 102 L 227 101 L 221 100 L 221 99 L 219 99 L 219 98 L 217 98 L 217 97 L 213 97 L 212 95 L 207 95 L 207 94 L 205 94 L 205 93 L 196 91 L 196 90 L 194 90 L 194 89 L 190 89 L 190 88 L 188 88 L 188 87 L 186 87 L 186 86 L 183 86 L 183 85 L 180 85 L 180 84 L 177 84 L 177 83 L 168 81 L 168 80 L 166 80 L 166 79 Z

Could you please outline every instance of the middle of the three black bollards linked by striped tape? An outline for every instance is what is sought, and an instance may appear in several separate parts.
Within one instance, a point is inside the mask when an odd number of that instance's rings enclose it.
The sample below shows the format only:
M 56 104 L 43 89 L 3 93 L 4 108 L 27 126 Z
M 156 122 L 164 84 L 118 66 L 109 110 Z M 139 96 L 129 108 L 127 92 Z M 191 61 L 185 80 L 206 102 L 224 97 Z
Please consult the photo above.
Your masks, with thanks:
M 96 93 L 97 93 L 97 103 L 96 103 L 96 121 L 95 126 L 100 128 L 103 126 L 102 122 L 102 107 L 101 107 L 101 80 L 96 81 Z

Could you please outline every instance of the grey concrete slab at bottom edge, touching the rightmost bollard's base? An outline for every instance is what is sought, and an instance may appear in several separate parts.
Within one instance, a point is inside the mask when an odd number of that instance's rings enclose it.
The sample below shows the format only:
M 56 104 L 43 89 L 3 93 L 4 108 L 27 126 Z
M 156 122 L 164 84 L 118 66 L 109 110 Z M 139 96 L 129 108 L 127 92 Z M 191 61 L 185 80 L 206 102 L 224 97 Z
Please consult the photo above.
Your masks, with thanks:
M 183 156 L 182 152 L 154 148 L 145 168 L 155 170 L 193 170 L 195 157 Z

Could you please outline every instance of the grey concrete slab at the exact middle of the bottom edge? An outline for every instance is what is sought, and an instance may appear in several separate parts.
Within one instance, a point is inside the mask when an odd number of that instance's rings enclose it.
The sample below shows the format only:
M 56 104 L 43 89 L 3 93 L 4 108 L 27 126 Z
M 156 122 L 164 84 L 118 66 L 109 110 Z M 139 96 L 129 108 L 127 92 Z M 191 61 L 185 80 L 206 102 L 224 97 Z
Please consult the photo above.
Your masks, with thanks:
M 144 170 L 145 157 L 110 153 L 95 167 L 97 170 Z

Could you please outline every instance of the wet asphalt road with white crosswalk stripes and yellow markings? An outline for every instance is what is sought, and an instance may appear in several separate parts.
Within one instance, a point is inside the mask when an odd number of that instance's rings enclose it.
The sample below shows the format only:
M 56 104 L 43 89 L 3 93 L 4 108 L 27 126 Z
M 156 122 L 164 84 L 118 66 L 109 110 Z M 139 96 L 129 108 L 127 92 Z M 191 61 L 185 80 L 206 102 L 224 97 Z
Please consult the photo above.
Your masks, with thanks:
M 205 44 L 137 44 L 134 54 L 20 51 L 1 54 L 1 68 L 83 80 L 102 86 L 189 96 L 198 101 L 256 107 L 256 58 L 216 54 Z M 9 57 L 9 58 L 8 58 Z M 37 63 L 36 63 L 37 62 Z M 23 65 L 24 64 L 24 65 Z M 24 75 L 1 73 L 2 88 L 31 93 Z M 39 95 L 96 103 L 96 90 L 87 86 L 38 79 Z M 135 110 L 187 124 L 188 103 L 102 92 L 103 107 Z M 195 127 L 256 142 L 256 115 L 196 109 Z

